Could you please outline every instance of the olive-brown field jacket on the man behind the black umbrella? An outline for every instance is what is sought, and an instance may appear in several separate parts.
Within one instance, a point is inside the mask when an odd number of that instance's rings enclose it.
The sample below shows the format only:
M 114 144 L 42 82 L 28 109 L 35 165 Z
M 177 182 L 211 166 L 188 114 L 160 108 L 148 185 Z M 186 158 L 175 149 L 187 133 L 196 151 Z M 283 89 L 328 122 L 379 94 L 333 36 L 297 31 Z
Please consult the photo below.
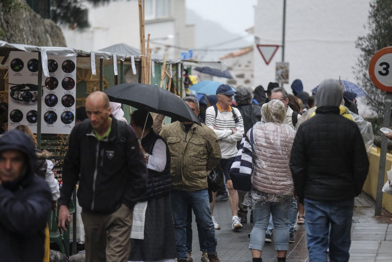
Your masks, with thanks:
M 181 191 L 206 189 L 207 172 L 221 159 L 218 137 L 202 124 L 193 124 L 189 132 L 179 122 L 165 126 L 160 136 L 166 141 L 171 154 L 173 188 Z

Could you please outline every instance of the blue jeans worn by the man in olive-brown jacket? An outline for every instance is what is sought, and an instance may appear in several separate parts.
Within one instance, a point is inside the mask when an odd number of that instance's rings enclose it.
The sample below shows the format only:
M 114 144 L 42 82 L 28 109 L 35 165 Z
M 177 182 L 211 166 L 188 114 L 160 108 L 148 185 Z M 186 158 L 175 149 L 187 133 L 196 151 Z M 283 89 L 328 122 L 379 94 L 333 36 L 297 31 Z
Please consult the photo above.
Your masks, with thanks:
M 212 223 L 210 202 L 207 189 L 187 192 L 173 190 L 170 193 L 171 208 L 174 221 L 174 236 L 176 238 L 177 258 L 187 259 L 187 208 L 191 204 L 204 236 L 205 248 L 208 254 L 216 252 L 214 223 Z

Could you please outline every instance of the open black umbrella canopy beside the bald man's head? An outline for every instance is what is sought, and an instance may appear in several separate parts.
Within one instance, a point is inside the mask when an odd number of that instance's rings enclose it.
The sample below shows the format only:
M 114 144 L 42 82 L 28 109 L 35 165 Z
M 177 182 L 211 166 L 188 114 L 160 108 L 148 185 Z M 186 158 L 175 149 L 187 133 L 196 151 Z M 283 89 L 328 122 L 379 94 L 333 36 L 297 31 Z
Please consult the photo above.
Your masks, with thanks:
M 150 84 L 118 84 L 103 91 L 111 102 L 117 102 L 144 109 L 179 121 L 191 121 L 198 125 L 200 121 L 192 109 L 173 93 Z

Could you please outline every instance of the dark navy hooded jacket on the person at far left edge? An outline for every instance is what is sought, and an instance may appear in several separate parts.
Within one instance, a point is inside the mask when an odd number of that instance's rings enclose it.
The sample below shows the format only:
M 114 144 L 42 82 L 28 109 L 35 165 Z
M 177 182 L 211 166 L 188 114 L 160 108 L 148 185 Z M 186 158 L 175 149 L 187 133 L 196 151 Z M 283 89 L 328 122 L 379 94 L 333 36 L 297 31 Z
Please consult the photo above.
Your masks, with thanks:
M 15 183 L 0 185 L 0 260 L 42 262 L 44 229 L 51 210 L 51 193 L 36 176 L 36 156 L 31 138 L 10 131 L 0 138 L 0 151 L 13 148 L 27 157 L 27 172 Z

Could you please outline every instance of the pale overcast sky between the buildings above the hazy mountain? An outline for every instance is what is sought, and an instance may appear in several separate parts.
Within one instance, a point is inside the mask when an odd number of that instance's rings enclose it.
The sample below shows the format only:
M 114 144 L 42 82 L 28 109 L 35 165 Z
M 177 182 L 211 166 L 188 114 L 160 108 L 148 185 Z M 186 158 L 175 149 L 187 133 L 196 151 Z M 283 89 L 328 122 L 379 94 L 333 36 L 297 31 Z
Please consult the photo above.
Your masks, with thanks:
M 232 33 L 245 35 L 245 29 L 254 25 L 257 0 L 186 0 L 188 9 L 205 19 L 221 24 Z

